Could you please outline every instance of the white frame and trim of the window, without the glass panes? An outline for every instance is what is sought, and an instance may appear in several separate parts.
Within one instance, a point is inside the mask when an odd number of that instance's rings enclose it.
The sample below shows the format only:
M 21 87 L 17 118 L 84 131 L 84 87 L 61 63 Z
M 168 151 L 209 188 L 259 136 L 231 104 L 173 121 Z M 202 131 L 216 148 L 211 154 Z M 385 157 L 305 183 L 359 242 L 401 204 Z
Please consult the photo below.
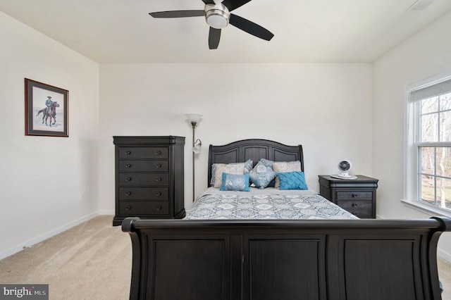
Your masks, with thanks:
M 422 100 L 416 99 L 412 101 L 411 99 L 412 92 L 433 87 L 449 80 L 451 80 L 451 70 L 424 78 L 404 87 L 404 196 L 401 201 L 405 206 L 421 211 L 422 213 L 427 213 L 428 215 L 439 214 L 451 217 L 451 208 L 441 208 L 440 206 L 428 204 L 426 201 L 419 199 L 422 173 L 420 165 L 421 157 L 419 155 L 420 147 L 451 147 L 451 142 L 421 142 L 419 140 L 421 135 L 420 103 Z M 437 175 L 436 168 L 434 175 Z M 435 184 L 435 192 L 436 189 L 437 186 Z M 437 204 L 438 199 L 436 194 L 434 198 L 435 204 Z

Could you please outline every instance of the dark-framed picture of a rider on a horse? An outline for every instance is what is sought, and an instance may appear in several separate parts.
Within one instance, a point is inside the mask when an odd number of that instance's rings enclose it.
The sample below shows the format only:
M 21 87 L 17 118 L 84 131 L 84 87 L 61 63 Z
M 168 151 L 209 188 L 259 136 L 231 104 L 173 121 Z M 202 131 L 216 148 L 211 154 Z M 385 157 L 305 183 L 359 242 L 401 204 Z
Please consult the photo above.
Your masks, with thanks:
M 25 135 L 68 137 L 69 91 L 25 78 Z

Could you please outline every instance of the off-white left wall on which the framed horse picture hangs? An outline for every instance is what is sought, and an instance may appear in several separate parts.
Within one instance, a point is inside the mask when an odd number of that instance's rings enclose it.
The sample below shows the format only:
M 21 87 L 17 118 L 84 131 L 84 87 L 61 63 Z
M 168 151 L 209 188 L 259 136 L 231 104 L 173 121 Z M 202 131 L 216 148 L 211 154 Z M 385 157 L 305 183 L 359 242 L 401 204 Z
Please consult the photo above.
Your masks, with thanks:
M 0 258 L 98 211 L 99 65 L 0 12 Z M 24 78 L 69 91 L 69 137 L 25 136 Z

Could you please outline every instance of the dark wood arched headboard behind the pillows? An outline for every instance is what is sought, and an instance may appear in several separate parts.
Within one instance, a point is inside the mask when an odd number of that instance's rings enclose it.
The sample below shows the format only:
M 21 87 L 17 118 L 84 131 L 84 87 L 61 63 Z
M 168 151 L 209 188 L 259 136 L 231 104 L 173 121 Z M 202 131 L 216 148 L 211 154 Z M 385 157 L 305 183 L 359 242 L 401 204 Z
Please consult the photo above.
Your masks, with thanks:
M 248 159 L 254 165 L 261 158 L 270 161 L 300 161 L 304 172 L 302 146 L 287 146 L 268 139 L 242 139 L 222 146 L 209 146 L 209 172 L 207 186 L 210 186 L 211 165 L 214 163 L 244 163 Z

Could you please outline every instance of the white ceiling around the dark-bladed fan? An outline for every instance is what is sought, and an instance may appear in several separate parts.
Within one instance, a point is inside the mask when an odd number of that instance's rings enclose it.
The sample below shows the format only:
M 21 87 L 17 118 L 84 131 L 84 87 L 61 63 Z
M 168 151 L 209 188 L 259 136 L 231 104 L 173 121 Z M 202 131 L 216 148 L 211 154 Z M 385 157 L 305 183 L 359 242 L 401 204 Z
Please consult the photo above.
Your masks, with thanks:
M 229 25 L 216 50 L 209 50 L 203 17 L 148 14 L 203 9 L 202 0 L 0 0 L 0 11 L 98 63 L 360 63 L 451 11 L 450 0 L 435 0 L 424 11 L 406 12 L 414 2 L 253 0 L 233 13 L 273 39 Z

